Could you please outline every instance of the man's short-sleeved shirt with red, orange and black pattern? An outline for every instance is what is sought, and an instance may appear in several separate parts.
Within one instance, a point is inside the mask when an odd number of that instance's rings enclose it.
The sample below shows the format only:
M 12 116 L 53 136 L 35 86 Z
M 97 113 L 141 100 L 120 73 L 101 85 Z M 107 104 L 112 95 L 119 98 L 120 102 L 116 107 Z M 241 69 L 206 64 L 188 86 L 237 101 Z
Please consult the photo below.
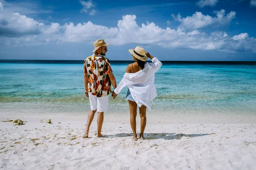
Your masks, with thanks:
M 108 96 L 111 93 L 111 82 L 108 73 L 111 73 L 110 62 L 106 57 L 93 54 L 84 60 L 84 73 L 87 73 L 88 92 L 97 97 Z

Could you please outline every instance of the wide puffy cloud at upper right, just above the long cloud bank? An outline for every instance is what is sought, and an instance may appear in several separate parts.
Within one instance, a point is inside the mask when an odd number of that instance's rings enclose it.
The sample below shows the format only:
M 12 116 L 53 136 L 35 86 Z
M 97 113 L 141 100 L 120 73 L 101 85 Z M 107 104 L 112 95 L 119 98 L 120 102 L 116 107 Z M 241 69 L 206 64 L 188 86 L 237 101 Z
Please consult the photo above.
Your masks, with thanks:
M 221 9 L 221 11 L 214 11 L 214 13 L 216 14 L 216 17 L 204 15 L 201 12 L 195 12 L 192 16 L 187 16 L 185 18 L 182 18 L 180 13 L 177 16 L 172 14 L 172 17 L 181 23 L 180 28 L 191 30 L 205 28 L 208 26 L 227 25 L 236 16 L 236 12 L 234 11 L 231 11 L 225 16 L 224 9 Z

